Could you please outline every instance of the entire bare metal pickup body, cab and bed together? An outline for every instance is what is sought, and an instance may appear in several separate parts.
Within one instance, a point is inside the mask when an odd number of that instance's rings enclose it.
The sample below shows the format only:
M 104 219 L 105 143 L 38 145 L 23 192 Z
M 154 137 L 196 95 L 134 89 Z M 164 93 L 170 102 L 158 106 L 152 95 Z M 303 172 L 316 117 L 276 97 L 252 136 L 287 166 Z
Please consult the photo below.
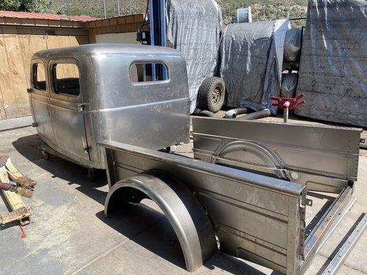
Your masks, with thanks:
M 77 66 L 79 86 L 75 76 L 59 78 L 71 70 L 57 72 L 59 63 Z M 40 64 L 45 82 L 34 73 Z M 43 140 L 74 162 L 105 165 L 106 216 L 113 206 L 154 200 L 190 272 L 218 251 L 218 238 L 224 253 L 304 274 L 355 202 L 361 129 L 193 118 L 195 158 L 156 151 L 189 137 L 185 61 L 175 50 L 87 45 L 39 52 L 32 80 Z M 336 198 L 306 224 L 309 191 Z M 366 221 L 327 274 L 340 266 Z

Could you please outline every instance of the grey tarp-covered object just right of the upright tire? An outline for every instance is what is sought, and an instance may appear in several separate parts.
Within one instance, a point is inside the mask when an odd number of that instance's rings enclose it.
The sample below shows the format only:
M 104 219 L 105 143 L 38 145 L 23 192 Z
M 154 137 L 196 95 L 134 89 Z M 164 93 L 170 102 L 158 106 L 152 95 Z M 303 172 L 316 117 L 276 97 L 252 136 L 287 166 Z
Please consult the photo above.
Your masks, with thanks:
M 284 38 L 288 20 L 236 23 L 227 26 L 220 43 L 220 76 L 229 107 L 270 109 L 270 96 L 280 96 Z

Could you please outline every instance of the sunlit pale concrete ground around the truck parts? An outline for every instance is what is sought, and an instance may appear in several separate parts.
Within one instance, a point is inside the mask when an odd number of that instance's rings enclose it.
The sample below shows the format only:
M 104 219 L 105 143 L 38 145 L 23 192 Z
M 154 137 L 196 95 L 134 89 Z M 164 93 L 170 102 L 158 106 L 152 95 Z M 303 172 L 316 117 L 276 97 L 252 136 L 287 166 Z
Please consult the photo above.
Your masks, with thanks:
M 24 199 L 34 209 L 32 223 L 25 227 L 27 239 L 21 239 L 14 223 L 0 227 L 0 274 L 189 274 L 174 231 L 154 203 L 144 201 L 105 219 L 104 172 L 98 171 L 96 179 L 88 181 L 85 168 L 57 157 L 43 159 L 37 149 L 41 140 L 27 126 L 31 123 L 30 117 L 0 121 L 0 155 L 10 155 L 19 170 L 38 182 L 34 197 Z M 190 155 L 191 146 L 176 151 Z M 317 274 L 359 215 L 367 212 L 366 178 L 367 155 L 361 151 L 357 203 L 307 274 Z M 330 201 L 328 197 L 313 199 L 316 209 Z M 7 211 L 0 200 L 0 213 Z M 277 273 L 218 253 L 194 274 Z M 339 274 L 367 274 L 367 233 Z

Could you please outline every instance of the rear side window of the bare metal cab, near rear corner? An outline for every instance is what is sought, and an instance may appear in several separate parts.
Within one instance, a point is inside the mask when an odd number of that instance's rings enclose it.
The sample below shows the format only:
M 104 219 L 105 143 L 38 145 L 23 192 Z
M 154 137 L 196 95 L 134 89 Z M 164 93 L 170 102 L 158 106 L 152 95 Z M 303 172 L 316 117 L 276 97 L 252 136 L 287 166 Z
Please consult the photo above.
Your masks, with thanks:
M 56 94 L 79 96 L 79 68 L 74 63 L 55 63 L 52 65 L 52 85 Z

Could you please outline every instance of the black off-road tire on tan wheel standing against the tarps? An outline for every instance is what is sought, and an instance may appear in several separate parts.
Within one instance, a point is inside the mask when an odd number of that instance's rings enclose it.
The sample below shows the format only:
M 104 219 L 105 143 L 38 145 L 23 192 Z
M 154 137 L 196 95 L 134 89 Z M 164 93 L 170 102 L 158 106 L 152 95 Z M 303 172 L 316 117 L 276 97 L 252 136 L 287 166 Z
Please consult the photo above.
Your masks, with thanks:
M 198 91 L 198 107 L 217 113 L 223 106 L 225 92 L 222 78 L 205 78 Z

